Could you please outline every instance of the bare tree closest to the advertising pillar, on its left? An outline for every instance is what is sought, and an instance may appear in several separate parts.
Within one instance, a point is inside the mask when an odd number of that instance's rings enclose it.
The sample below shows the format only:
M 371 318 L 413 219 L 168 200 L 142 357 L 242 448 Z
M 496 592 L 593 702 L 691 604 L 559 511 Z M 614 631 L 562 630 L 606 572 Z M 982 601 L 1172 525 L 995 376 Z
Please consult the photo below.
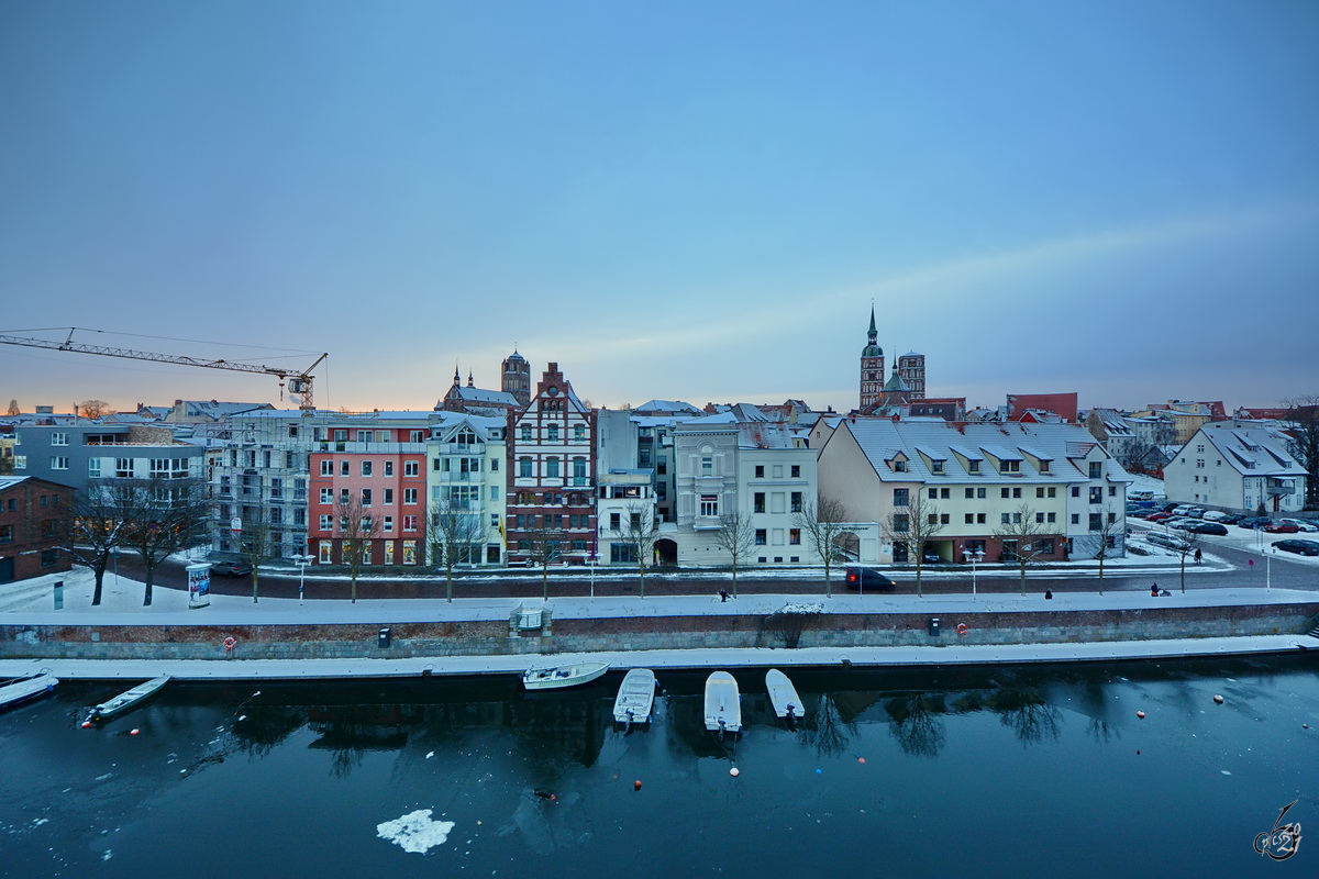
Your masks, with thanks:
M 121 546 L 142 560 L 145 593 L 152 604 L 156 568 L 170 555 L 210 536 L 211 507 L 199 480 L 111 480 L 108 499 L 121 519 Z

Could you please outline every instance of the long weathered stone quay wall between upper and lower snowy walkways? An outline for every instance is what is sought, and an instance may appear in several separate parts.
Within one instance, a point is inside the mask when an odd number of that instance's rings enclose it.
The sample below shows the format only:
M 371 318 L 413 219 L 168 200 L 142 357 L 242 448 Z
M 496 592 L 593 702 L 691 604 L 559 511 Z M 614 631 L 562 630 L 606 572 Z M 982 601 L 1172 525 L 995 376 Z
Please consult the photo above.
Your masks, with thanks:
M 0 625 L 0 659 L 383 659 L 727 647 L 1087 643 L 1303 634 L 1319 602 L 956 613 L 743 614 L 484 622 Z M 959 634 L 958 626 L 966 633 Z M 381 630 L 389 630 L 388 638 Z M 232 648 L 226 640 L 232 638 Z

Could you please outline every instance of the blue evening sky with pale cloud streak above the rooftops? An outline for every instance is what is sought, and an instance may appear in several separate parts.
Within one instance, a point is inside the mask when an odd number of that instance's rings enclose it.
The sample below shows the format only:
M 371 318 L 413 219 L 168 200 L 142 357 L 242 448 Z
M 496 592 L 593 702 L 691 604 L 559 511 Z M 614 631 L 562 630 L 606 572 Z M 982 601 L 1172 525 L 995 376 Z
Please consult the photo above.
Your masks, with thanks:
M 0 0 L 0 333 L 431 409 L 1319 394 L 1319 4 Z M 102 332 L 94 332 L 102 331 Z M 0 405 L 281 403 L 0 344 Z M 293 405 L 285 397 L 284 405 Z

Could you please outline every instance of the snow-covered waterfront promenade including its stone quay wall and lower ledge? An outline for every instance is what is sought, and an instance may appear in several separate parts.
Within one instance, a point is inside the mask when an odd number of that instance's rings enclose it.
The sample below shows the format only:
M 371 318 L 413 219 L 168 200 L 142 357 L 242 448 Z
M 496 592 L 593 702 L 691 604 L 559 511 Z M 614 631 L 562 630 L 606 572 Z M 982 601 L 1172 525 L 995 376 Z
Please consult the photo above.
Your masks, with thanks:
M 356 604 L 212 596 L 203 609 L 189 609 L 185 593 L 160 589 L 144 609 L 138 582 L 107 577 L 103 605 L 91 608 L 87 572 L 62 580 L 61 610 L 53 608 L 54 577 L 7 588 L 0 677 L 42 668 L 69 679 L 479 675 L 587 656 L 617 668 L 860 667 L 1319 650 L 1310 634 L 1319 590 L 1295 588 L 1173 588 L 1163 597 L 1059 592 L 1050 600 L 1034 592 L 918 597 L 835 588 L 832 597 L 761 593 L 727 602 L 711 594 Z M 520 611 L 542 608 L 542 630 L 517 630 Z M 776 614 L 803 614 L 815 625 L 789 647 L 786 633 L 766 625 Z M 388 646 L 379 640 L 385 629 Z

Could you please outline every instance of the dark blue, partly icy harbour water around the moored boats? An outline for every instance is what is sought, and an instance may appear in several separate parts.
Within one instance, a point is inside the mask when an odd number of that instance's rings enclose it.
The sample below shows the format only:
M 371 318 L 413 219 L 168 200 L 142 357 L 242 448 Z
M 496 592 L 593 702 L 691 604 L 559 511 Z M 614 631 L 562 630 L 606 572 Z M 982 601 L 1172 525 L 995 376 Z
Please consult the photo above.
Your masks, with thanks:
M 696 673 L 661 673 L 630 734 L 619 673 L 536 696 L 510 677 L 171 684 L 90 730 L 84 706 L 121 687 L 62 684 L 0 714 L 0 875 L 1319 874 L 1319 656 L 799 671 L 797 733 L 762 672 L 735 673 L 736 743 L 702 729 Z M 1287 821 L 1314 838 L 1256 854 L 1298 799 Z M 377 836 L 418 809 L 447 841 Z

